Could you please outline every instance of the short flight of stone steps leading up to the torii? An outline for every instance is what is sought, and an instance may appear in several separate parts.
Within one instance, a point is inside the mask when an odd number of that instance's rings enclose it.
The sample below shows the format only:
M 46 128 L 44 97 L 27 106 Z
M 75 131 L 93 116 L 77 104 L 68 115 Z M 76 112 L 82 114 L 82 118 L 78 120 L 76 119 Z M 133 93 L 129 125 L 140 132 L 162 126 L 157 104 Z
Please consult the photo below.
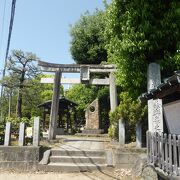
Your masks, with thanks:
M 82 172 L 103 170 L 107 167 L 104 150 L 51 149 L 39 170 L 48 172 Z

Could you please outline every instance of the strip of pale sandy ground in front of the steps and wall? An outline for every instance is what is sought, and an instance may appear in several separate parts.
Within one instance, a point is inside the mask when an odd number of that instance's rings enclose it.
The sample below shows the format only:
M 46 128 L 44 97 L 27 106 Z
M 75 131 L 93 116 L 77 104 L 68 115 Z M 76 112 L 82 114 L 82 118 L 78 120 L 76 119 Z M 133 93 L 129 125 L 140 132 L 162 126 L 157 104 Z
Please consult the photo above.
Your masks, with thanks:
M 129 169 L 80 173 L 17 172 L 0 170 L 0 180 L 134 180 Z

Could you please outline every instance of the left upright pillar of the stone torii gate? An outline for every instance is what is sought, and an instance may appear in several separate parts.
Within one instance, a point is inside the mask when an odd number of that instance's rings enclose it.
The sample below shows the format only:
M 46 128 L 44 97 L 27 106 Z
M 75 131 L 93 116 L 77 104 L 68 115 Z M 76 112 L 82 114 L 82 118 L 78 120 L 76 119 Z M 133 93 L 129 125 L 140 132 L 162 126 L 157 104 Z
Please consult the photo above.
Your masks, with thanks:
M 48 134 L 49 140 L 56 138 L 57 118 L 58 118 L 58 112 L 59 112 L 59 94 L 60 94 L 60 85 L 61 85 L 61 75 L 62 73 L 60 70 L 55 72 L 53 96 L 52 96 L 52 104 L 51 104 L 51 114 L 50 114 L 50 122 L 49 122 L 49 134 Z

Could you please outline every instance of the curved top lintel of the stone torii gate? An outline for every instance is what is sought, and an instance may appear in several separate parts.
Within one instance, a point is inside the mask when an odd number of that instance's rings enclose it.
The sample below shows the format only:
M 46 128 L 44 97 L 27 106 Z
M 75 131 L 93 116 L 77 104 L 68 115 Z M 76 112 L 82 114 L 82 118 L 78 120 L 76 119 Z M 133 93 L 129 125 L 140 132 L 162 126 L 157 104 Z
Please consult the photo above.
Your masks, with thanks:
M 81 69 L 86 67 L 90 72 L 111 73 L 116 71 L 114 65 L 95 65 L 95 64 L 55 64 L 44 61 L 38 61 L 38 66 L 44 72 L 56 72 L 60 70 L 62 73 L 79 73 Z

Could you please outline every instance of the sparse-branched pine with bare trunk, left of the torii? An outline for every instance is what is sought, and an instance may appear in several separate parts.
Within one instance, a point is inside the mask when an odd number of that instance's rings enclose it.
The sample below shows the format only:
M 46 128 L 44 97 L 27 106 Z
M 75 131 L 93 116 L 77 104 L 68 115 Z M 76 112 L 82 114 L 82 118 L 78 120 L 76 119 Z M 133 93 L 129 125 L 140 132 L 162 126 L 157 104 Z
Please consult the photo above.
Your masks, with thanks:
M 17 117 L 22 118 L 23 91 L 29 86 L 29 81 L 39 72 L 34 65 L 38 58 L 32 53 L 13 50 L 7 63 L 8 77 L 3 80 L 3 85 L 10 89 L 18 89 Z

